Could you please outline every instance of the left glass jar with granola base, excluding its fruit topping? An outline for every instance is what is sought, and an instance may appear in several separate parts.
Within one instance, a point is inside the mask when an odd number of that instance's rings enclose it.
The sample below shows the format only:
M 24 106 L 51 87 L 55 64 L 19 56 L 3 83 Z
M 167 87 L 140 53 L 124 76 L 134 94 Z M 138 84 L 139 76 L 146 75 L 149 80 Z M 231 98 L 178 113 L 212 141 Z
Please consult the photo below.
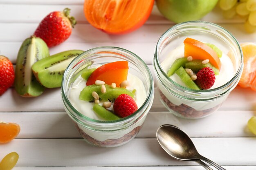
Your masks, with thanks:
M 92 119 L 76 110 L 70 102 L 69 91 L 83 69 L 116 61 L 128 61 L 128 73 L 141 79 L 147 95 L 142 106 L 132 115 L 115 121 Z M 61 95 L 67 114 L 88 143 L 101 147 L 116 147 L 132 140 L 141 129 L 153 103 L 153 78 L 145 62 L 134 53 L 117 47 L 98 47 L 85 51 L 70 63 L 63 75 Z

